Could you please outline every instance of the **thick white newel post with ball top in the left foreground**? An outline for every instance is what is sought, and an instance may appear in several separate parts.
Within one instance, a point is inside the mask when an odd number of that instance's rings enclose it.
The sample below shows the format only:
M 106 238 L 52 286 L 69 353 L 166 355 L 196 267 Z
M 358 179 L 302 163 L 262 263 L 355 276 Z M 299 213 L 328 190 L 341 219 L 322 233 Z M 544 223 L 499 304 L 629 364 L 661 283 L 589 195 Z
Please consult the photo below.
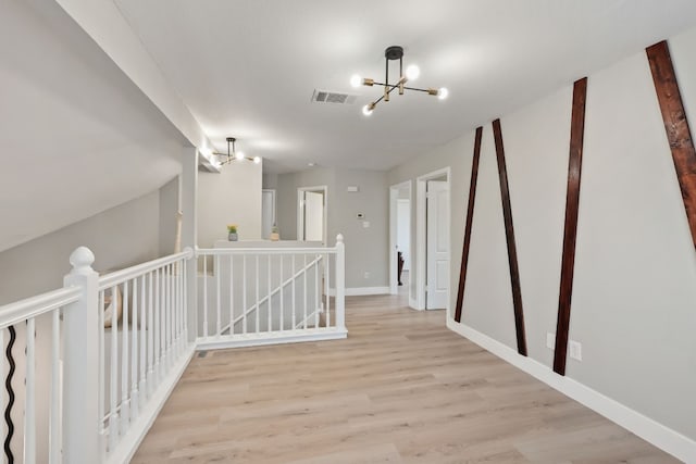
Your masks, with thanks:
M 63 309 L 63 462 L 101 461 L 99 435 L 99 274 L 95 254 L 79 247 L 64 287 L 80 287 L 78 301 Z

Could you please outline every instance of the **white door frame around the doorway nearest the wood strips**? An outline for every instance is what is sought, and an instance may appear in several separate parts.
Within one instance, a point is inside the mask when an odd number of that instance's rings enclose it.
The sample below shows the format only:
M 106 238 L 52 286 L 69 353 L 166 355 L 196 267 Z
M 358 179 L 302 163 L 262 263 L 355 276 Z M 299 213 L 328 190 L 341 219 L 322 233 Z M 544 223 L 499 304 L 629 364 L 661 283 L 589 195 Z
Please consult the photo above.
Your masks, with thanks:
M 431 173 L 419 176 L 415 179 L 415 265 L 413 265 L 413 260 L 411 260 L 411 269 L 415 271 L 415 305 L 412 306 L 419 311 L 425 310 L 425 285 L 426 285 L 426 264 L 427 264 L 427 247 L 425 243 L 426 240 L 426 191 L 427 191 L 427 181 L 440 179 L 445 176 L 445 181 L 447 181 L 447 202 L 448 204 L 448 213 L 447 213 L 447 224 L 446 227 L 449 230 L 449 263 L 451 271 L 451 254 L 452 254 L 452 234 L 451 234 L 451 212 L 452 212 L 452 198 L 451 198 L 451 168 L 449 166 L 443 167 L 437 171 L 433 171 Z M 449 314 L 450 306 L 450 296 L 451 296 L 451 272 L 449 278 L 449 285 L 447 286 L 447 305 L 446 305 L 446 314 Z

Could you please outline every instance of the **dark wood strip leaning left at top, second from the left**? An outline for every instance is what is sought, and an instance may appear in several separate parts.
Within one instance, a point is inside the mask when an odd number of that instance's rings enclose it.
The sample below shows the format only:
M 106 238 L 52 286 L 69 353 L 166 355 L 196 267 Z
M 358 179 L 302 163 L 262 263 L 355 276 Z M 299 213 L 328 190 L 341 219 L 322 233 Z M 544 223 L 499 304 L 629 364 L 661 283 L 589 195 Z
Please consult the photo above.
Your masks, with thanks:
M 510 283 L 512 285 L 512 304 L 514 306 L 514 329 L 518 338 L 518 353 L 526 356 L 526 336 L 524 334 L 524 310 L 522 309 L 522 290 L 520 288 L 520 271 L 518 268 L 518 249 L 514 242 L 512 206 L 510 205 L 510 189 L 508 188 L 508 171 L 505 165 L 505 148 L 502 147 L 500 120 L 493 122 L 493 138 L 496 142 L 500 197 L 502 198 L 502 217 L 505 220 L 505 235 L 508 242 L 508 263 L 510 264 Z

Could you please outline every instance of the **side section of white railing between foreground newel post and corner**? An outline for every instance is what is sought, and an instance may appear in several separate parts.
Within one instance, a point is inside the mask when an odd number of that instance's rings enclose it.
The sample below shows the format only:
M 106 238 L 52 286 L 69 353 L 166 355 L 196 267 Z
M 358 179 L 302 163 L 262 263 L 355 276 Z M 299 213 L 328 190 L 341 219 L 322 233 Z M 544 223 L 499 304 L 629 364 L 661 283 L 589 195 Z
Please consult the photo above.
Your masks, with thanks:
M 99 278 L 99 418 L 104 459 L 125 462 L 188 364 L 190 249 Z

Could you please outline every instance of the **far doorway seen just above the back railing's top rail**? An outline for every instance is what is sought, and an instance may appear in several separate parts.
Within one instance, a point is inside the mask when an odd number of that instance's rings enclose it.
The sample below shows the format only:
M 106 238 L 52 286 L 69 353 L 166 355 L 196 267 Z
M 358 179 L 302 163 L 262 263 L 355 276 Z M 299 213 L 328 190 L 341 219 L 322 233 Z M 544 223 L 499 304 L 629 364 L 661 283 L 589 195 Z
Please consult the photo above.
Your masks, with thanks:
M 326 243 L 326 186 L 297 189 L 297 239 Z

